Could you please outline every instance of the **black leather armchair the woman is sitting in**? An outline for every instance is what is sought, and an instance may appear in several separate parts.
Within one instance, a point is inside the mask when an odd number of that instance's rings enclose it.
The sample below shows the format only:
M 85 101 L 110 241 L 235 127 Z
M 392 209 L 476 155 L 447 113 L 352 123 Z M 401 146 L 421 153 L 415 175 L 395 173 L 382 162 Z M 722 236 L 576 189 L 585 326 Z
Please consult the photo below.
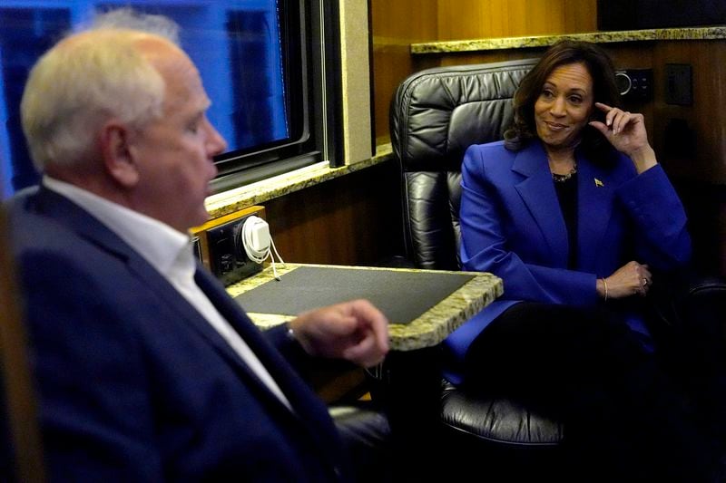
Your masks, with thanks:
M 503 139 L 513 121 L 512 97 L 535 63 L 429 69 L 398 87 L 391 104 L 390 133 L 401 174 L 406 256 L 414 266 L 460 268 L 458 212 L 464 151 L 471 144 Z M 721 279 L 695 280 L 679 294 L 665 297 L 667 303 L 660 305 L 664 325 L 684 326 L 692 317 L 710 314 L 712 320 L 703 330 L 723 330 L 726 285 Z M 486 388 L 472 393 L 446 379 L 439 395 L 437 451 L 448 453 L 446 461 L 456 461 L 446 466 L 447 476 L 483 471 L 493 481 L 570 477 L 561 445 L 565 429 L 559 421 L 487 394 Z

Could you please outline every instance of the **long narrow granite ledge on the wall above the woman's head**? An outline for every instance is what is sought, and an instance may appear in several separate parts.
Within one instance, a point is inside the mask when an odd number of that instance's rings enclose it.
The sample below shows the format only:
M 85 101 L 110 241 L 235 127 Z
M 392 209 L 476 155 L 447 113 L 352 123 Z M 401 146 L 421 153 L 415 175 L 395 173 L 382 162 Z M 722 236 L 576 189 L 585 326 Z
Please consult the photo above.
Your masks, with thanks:
M 726 39 L 726 26 L 664 28 L 592 32 L 587 34 L 535 35 L 444 42 L 412 43 L 411 53 L 456 53 L 527 47 L 547 47 L 562 39 L 593 43 L 643 42 L 654 40 L 720 40 Z

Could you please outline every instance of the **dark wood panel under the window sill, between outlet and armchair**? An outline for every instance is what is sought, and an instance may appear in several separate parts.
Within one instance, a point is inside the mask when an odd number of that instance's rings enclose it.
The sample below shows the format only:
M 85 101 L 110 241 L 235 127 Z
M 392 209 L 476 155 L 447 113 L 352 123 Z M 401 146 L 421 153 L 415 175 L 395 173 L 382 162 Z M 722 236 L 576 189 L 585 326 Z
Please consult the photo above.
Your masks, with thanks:
M 285 260 L 373 266 L 403 254 L 399 190 L 386 162 L 270 200 L 265 214 Z

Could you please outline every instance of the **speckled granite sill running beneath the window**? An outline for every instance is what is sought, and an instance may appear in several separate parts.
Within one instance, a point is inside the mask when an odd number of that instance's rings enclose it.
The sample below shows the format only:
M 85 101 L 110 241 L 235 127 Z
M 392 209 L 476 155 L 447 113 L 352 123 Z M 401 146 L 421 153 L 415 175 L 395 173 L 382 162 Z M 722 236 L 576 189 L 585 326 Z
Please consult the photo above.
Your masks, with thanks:
M 377 146 L 376 155 L 371 159 L 364 159 L 339 168 L 330 168 L 328 161 L 320 161 L 305 168 L 295 169 L 289 173 L 212 195 L 206 199 L 205 205 L 210 217 L 218 218 L 242 208 L 264 203 L 272 198 L 280 198 L 299 189 L 315 186 L 329 179 L 370 168 L 391 158 L 391 144 L 383 144 Z

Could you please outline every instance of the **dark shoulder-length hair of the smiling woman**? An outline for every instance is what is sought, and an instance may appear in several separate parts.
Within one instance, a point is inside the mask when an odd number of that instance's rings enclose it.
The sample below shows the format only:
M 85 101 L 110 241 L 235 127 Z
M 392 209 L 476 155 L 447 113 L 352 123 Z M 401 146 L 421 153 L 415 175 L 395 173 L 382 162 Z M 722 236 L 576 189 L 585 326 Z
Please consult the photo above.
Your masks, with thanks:
M 593 78 L 593 99 L 613 107 L 620 107 L 620 93 L 615 85 L 613 62 L 603 49 L 589 42 L 562 40 L 555 43 L 544 53 L 535 67 L 525 75 L 515 92 L 515 122 L 505 132 L 507 150 L 521 150 L 536 138 L 535 102 L 542 87 L 552 72 L 572 63 L 583 63 Z M 604 113 L 594 108 L 593 120 L 603 121 Z M 580 147 L 590 156 L 602 158 L 603 147 L 609 146 L 603 135 L 585 126 Z

